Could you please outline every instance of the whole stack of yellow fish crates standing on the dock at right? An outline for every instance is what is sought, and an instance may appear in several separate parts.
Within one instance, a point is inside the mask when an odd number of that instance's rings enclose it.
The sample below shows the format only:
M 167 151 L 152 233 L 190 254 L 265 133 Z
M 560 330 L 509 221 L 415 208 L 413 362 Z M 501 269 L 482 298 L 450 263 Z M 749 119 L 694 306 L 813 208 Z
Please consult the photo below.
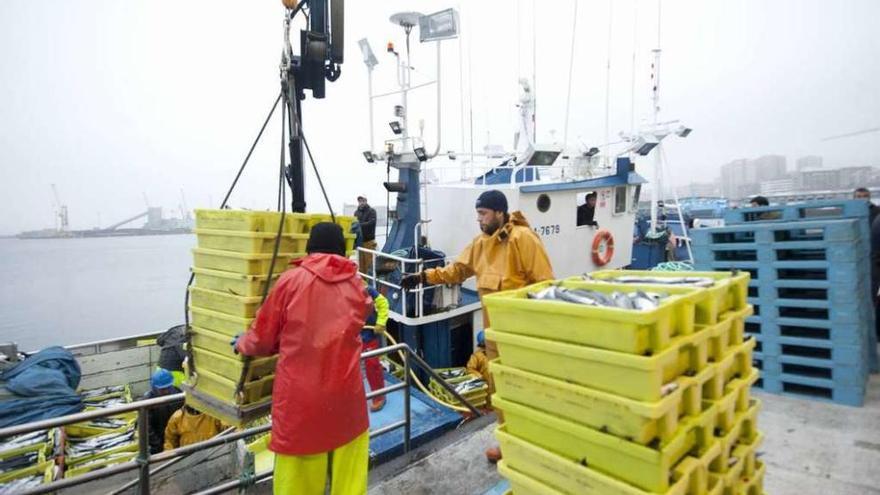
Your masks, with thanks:
M 762 494 L 748 274 L 711 278 L 693 288 L 578 277 L 484 298 L 500 355 L 499 471 L 514 494 Z M 667 296 L 649 310 L 528 298 L 554 284 Z

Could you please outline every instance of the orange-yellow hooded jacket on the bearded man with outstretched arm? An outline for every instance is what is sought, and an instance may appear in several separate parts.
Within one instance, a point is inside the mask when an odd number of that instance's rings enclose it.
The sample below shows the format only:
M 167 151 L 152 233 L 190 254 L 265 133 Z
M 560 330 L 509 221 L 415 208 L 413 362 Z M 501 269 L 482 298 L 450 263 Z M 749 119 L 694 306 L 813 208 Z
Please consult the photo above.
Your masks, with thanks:
M 473 275 L 477 276 L 477 291 L 482 297 L 551 280 L 553 268 L 541 239 L 522 212 L 515 211 L 492 235 L 481 233 L 475 237 L 452 264 L 425 270 L 425 279 L 432 285 L 460 284 Z M 489 327 L 485 308 L 483 325 Z

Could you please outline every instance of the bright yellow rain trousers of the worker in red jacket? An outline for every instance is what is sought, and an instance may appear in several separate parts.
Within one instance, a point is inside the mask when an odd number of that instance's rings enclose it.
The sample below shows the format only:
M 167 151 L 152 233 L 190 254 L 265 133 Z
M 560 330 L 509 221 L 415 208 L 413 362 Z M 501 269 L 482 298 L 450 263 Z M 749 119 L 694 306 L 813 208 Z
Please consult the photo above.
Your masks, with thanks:
M 365 495 L 370 463 L 370 432 L 330 452 L 275 454 L 275 495 Z M 326 491 L 327 484 L 330 491 Z

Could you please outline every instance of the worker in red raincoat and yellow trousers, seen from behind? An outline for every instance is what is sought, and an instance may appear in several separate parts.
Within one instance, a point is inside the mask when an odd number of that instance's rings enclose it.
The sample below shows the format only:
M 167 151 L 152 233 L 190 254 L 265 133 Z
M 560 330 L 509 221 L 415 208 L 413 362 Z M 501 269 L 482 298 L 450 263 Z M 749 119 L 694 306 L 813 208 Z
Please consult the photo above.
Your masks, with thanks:
M 372 301 L 344 257 L 342 229 L 312 228 L 298 269 L 281 274 L 250 330 L 233 340 L 247 356 L 279 354 L 272 390 L 274 492 L 367 493 L 369 418 L 360 331 Z

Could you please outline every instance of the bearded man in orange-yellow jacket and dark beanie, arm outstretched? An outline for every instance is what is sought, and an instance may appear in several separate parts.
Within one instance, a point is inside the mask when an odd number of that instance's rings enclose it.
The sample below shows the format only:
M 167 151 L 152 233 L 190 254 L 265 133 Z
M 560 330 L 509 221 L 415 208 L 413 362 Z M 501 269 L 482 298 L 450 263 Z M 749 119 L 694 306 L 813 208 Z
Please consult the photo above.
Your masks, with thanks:
M 519 289 L 544 280 L 553 279 L 550 258 L 541 238 L 532 231 L 522 212 L 507 212 L 507 197 L 496 189 L 477 198 L 477 223 L 482 231 L 468 244 L 453 263 L 405 276 L 400 285 L 412 289 L 421 284 L 460 284 L 477 277 L 477 292 L 482 299 L 486 294 Z M 489 328 L 489 314 L 483 307 L 483 328 Z M 486 357 L 498 357 L 495 343 L 486 341 Z M 491 378 L 491 377 L 490 377 Z M 495 391 L 489 380 L 489 392 Z M 503 415 L 496 411 L 499 421 Z M 501 450 L 492 447 L 486 451 L 490 462 L 501 459 Z

